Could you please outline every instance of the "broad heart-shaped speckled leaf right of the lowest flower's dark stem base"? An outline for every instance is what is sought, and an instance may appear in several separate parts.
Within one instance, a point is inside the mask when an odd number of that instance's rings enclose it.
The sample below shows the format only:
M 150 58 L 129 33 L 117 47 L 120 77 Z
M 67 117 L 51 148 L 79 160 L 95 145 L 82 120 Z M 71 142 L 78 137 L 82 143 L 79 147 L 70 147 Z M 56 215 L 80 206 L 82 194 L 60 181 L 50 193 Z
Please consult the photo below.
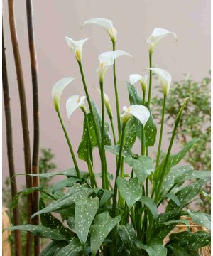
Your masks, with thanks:
M 126 181 L 124 178 L 119 176 L 117 178 L 117 186 L 122 198 L 124 198 L 130 210 L 134 203 L 136 203 L 136 201 L 138 201 L 142 196 L 141 188 L 138 184 L 138 179 L 131 178 L 129 181 Z

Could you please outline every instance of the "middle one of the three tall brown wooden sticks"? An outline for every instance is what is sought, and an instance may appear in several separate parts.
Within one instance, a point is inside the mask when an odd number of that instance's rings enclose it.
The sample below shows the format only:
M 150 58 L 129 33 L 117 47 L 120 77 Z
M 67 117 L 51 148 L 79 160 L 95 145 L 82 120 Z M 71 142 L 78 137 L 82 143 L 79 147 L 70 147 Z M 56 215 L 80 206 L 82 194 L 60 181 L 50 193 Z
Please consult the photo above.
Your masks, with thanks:
M 18 81 L 18 93 L 20 99 L 20 107 L 21 107 L 21 123 L 23 130 L 23 145 L 24 145 L 24 162 L 25 162 L 25 171 L 26 174 L 31 174 L 31 147 L 30 147 L 30 138 L 29 138 L 29 130 L 28 130 L 28 114 L 27 114 L 27 106 L 26 106 L 26 95 L 25 95 L 25 87 L 23 82 L 23 72 L 21 66 L 21 57 L 18 48 L 18 38 L 16 33 L 16 21 L 14 15 L 14 1 L 8 0 L 9 7 L 9 25 L 11 31 L 11 41 L 13 46 L 13 55 L 16 64 L 16 75 Z M 26 187 L 29 188 L 32 186 L 31 176 L 26 175 Z M 27 208 L 28 208 L 28 223 L 30 223 L 30 218 L 33 209 L 33 195 L 30 194 L 27 196 Z M 31 247 L 32 247 L 32 235 L 31 233 L 27 233 L 26 239 L 26 256 L 31 256 Z

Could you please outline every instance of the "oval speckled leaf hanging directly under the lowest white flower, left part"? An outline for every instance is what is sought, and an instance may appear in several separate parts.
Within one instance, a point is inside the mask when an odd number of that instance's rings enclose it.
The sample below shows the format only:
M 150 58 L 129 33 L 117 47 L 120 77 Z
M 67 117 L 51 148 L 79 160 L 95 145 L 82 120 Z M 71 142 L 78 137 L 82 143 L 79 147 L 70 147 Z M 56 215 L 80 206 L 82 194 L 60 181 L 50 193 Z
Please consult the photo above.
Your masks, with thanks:
M 125 139 L 124 139 L 124 146 L 131 149 L 133 144 L 136 142 L 136 128 L 134 126 L 134 119 L 131 117 L 126 124 L 125 128 Z

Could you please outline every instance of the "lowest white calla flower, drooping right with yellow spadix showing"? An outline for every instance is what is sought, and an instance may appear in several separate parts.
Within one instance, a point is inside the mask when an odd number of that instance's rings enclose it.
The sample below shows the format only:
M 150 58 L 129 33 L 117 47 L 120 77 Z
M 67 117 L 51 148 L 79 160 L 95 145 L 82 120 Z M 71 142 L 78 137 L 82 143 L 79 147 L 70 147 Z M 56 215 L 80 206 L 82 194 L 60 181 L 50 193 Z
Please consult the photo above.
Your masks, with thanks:
M 126 124 L 131 116 L 136 117 L 143 126 L 145 126 L 146 122 L 150 117 L 150 112 L 148 108 L 143 105 L 131 105 L 129 107 L 123 107 L 124 113 L 121 114 L 121 119 L 123 123 Z

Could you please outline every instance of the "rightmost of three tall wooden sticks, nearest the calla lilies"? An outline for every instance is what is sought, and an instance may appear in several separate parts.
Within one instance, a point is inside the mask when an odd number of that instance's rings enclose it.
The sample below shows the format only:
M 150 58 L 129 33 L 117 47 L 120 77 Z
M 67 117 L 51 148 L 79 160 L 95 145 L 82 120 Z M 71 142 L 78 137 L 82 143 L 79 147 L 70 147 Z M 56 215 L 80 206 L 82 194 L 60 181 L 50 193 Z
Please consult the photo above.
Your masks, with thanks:
M 39 154 L 39 101 L 38 101 L 38 75 L 37 60 L 35 53 L 34 33 L 33 33 L 33 5 L 31 0 L 26 0 L 26 12 L 28 21 L 28 41 L 31 55 L 31 75 L 33 85 L 33 122 L 34 122 L 34 138 L 33 138 L 33 174 L 38 174 L 38 154 Z M 33 186 L 39 186 L 39 178 L 33 176 Z M 33 213 L 39 210 L 39 191 L 33 193 Z M 39 225 L 39 216 L 33 218 L 33 224 Z M 34 237 L 34 255 L 40 255 L 40 239 Z

